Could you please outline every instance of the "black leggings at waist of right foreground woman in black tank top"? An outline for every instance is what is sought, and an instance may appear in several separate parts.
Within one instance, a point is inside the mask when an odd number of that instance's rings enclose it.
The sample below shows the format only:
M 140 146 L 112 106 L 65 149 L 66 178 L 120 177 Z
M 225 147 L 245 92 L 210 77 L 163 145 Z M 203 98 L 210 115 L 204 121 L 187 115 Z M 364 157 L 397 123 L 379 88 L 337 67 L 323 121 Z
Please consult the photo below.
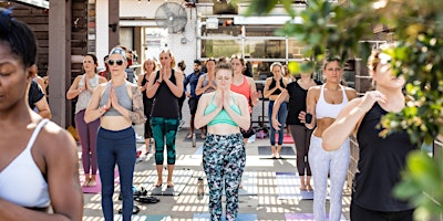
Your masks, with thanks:
M 414 210 L 384 212 L 368 210 L 351 202 L 351 220 L 356 221 L 413 221 Z

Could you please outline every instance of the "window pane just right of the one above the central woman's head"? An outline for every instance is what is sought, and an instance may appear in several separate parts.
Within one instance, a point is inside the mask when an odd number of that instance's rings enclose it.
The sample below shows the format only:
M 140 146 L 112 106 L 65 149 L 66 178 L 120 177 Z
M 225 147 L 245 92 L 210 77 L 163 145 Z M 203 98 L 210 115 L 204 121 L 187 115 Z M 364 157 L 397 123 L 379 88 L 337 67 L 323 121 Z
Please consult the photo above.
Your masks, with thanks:
M 286 59 L 285 40 L 246 40 L 245 54 L 253 59 Z

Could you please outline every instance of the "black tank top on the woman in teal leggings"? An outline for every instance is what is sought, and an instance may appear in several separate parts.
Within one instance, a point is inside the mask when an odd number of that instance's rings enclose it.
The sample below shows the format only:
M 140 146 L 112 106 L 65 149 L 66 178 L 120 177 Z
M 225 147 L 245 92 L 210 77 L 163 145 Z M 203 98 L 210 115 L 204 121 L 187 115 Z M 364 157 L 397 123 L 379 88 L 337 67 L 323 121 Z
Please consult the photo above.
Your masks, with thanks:
M 158 80 L 159 71 L 157 71 L 157 76 L 155 80 Z M 172 70 L 169 81 L 175 84 L 175 72 Z M 171 92 L 169 87 L 163 81 L 162 84 L 157 88 L 157 93 L 154 95 L 154 104 L 151 112 L 152 117 L 165 117 L 165 118 L 178 118 L 178 97 L 176 97 L 173 92 Z

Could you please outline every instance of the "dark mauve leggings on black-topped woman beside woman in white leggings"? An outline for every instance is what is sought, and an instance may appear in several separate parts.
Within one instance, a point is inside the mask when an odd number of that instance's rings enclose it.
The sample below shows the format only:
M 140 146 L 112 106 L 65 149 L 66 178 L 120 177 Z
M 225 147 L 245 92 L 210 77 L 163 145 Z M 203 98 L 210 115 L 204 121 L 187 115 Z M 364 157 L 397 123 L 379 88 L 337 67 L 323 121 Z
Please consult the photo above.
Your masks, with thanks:
M 308 129 L 301 125 L 288 125 L 288 127 L 296 144 L 298 175 L 300 177 L 305 175 L 312 176 L 308 160 L 312 129 Z

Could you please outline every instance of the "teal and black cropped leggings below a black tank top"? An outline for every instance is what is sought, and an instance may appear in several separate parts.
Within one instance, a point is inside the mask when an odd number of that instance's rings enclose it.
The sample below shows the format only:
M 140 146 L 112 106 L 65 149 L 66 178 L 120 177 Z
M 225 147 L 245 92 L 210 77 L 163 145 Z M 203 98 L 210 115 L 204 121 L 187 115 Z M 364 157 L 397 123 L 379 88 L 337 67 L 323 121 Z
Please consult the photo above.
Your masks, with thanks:
M 155 140 L 155 164 L 163 165 L 166 138 L 167 165 L 175 165 L 175 138 L 177 137 L 178 118 L 151 117 Z

